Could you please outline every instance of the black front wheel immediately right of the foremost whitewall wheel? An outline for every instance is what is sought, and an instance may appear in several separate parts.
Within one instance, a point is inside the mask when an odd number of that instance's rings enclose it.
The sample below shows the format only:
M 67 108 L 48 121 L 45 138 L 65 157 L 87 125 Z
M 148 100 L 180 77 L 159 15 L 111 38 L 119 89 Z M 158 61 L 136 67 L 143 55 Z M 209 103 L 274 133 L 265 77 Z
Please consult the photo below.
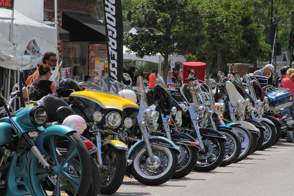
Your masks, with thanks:
M 178 179 L 188 175 L 195 167 L 197 161 L 197 149 L 189 145 L 178 145 L 181 154 L 178 155 L 178 167 L 172 178 Z

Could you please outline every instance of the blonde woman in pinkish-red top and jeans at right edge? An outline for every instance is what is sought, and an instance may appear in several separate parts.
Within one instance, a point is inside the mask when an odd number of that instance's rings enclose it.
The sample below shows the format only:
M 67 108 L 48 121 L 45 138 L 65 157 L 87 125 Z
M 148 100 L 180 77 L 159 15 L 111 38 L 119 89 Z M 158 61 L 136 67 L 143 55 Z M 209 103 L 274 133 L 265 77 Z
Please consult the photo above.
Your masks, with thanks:
M 293 94 L 292 98 L 294 97 L 294 69 L 293 68 L 289 68 L 287 70 L 287 78 L 284 78 L 281 83 L 280 86 L 282 86 L 283 88 L 289 88 L 289 92 Z M 288 113 L 291 114 L 292 120 L 294 120 L 294 99 L 292 99 L 292 105 L 288 108 L 285 108 L 288 110 Z M 287 131 L 286 133 L 286 141 L 285 142 L 293 142 L 293 131 Z

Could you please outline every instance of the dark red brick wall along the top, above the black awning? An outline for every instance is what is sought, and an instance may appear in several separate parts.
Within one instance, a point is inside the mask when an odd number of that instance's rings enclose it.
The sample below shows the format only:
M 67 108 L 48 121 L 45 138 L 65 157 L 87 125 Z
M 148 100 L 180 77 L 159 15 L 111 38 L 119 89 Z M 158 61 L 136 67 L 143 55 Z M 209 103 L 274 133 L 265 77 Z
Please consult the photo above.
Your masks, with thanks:
M 57 9 L 76 11 L 85 14 L 94 14 L 94 3 L 96 0 L 58 0 Z M 54 9 L 54 0 L 44 1 L 44 8 Z

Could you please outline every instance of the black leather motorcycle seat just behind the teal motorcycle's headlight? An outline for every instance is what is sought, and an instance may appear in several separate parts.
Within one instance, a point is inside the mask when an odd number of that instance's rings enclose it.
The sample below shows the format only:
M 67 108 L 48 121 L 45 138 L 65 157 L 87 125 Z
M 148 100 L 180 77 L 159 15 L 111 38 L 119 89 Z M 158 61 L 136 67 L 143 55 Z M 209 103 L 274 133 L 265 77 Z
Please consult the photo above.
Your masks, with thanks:
M 44 105 L 47 108 L 48 122 L 59 121 L 57 118 L 56 110 L 61 106 L 69 107 L 69 104 L 61 98 L 54 96 L 44 96 L 40 100 L 36 101 L 34 105 Z

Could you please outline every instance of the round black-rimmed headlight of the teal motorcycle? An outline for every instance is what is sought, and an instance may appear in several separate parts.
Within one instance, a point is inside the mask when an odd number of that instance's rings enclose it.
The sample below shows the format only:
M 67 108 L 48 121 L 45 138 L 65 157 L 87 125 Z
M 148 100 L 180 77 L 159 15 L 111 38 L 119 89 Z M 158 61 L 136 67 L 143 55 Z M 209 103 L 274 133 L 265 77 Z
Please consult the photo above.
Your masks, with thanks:
M 47 110 L 43 105 L 33 106 L 29 115 L 31 123 L 37 126 L 43 126 L 48 121 Z

